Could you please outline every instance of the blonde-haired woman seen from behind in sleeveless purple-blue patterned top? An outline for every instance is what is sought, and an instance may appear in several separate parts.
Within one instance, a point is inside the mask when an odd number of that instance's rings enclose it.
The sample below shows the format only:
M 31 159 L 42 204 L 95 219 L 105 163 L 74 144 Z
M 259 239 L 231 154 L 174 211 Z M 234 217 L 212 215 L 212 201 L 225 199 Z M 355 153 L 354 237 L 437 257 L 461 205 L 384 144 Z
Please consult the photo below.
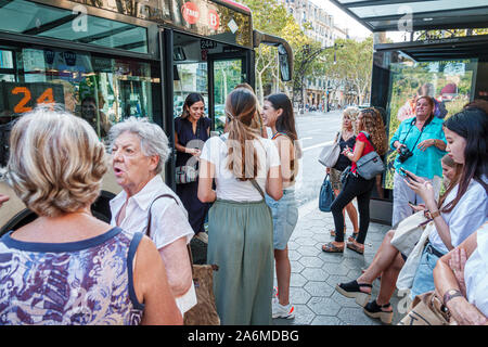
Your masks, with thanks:
M 9 183 L 39 217 L 0 239 L 0 325 L 181 324 L 154 244 L 90 213 L 107 170 L 90 125 L 35 110 L 10 149 Z

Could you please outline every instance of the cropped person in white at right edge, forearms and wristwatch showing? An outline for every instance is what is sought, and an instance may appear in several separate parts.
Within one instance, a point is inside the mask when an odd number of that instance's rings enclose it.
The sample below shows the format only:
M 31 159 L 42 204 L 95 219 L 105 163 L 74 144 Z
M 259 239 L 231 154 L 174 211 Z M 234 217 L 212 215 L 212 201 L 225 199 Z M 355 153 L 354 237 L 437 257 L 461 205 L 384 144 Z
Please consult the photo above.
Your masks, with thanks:
M 459 325 L 488 325 L 488 221 L 439 259 L 434 281 Z

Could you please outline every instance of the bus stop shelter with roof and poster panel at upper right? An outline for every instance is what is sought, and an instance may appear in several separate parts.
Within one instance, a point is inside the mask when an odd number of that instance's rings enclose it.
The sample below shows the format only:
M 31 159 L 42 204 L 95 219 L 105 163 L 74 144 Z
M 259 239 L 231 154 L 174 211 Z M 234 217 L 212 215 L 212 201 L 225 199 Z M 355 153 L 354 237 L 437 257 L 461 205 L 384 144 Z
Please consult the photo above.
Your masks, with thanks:
M 384 111 L 388 139 L 421 89 L 436 100 L 442 118 L 474 99 L 488 100 L 488 35 L 474 30 L 488 28 L 488 1 L 331 1 L 375 34 L 410 33 L 404 42 L 386 43 L 386 36 L 375 40 L 370 104 Z M 385 155 L 382 188 L 373 190 L 370 208 L 371 219 L 386 224 L 391 222 L 394 159 L 393 151 Z

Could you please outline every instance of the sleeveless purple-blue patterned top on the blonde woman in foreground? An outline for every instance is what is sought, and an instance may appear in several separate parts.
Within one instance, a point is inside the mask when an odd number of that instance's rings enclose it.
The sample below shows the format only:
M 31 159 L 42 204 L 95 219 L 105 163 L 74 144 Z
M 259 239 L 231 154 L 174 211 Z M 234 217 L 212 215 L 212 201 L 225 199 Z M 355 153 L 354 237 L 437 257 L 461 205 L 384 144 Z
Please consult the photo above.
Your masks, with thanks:
M 0 239 L 0 325 L 139 324 L 132 260 L 142 239 L 120 228 L 70 243 Z

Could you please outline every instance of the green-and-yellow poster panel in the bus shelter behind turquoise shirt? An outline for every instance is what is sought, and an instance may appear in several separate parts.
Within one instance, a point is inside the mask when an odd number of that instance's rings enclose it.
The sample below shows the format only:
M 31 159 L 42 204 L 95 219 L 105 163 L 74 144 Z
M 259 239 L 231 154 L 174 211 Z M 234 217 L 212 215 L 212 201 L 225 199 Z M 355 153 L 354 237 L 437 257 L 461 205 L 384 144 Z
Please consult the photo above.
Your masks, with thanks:
M 474 92 L 477 60 L 436 61 L 415 63 L 407 61 L 390 65 L 388 142 L 400 123 L 415 116 L 416 99 L 435 99 L 434 116 L 446 119 L 460 112 Z M 386 154 L 387 171 L 384 188 L 393 189 L 396 151 Z

